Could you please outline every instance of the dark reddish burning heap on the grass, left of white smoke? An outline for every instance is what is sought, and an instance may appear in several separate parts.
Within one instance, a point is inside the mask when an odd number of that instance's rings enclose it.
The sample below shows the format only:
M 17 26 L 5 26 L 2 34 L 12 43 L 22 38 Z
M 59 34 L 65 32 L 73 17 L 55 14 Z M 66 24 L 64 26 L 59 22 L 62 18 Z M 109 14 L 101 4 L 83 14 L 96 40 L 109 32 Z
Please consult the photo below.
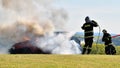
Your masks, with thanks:
M 36 47 L 31 41 L 16 43 L 9 50 L 11 54 L 49 54 Z

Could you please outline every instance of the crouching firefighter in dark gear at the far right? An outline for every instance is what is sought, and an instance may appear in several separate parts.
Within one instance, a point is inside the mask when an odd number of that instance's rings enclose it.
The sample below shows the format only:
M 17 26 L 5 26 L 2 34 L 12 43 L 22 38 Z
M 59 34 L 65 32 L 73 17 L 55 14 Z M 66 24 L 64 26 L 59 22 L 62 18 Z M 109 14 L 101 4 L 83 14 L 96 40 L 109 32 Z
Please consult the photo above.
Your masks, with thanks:
M 105 53 L 111 55 L 116 54 L 115 47 L 112 44 L 111 35 L 105 29 L 103 29 L 102 32 L 103 32 L 102 41 L 105 42 Z

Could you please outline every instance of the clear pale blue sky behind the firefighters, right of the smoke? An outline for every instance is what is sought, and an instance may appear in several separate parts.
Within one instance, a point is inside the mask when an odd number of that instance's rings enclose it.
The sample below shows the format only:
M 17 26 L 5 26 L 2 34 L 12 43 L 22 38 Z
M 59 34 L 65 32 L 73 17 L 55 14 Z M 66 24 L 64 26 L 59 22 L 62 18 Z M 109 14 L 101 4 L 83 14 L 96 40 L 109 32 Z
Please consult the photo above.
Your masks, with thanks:
M 83 32 L 81 26 L 86 16 L 95 20 L 101 30 L 120 34 L 120 0 L 55 0 L 54 6 L 63 8 L 68 14 L 66 29 Z M 99 28 L 94 28 L 99 32 Z

